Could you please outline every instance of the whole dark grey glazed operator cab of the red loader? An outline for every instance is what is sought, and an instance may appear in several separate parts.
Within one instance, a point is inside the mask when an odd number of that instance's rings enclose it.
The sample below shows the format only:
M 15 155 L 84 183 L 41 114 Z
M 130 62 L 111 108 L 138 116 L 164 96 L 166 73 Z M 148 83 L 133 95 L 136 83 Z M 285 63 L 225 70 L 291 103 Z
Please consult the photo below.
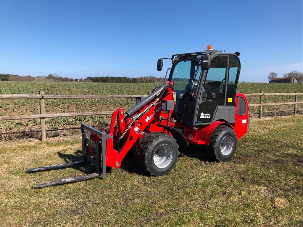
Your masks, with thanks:
M 201 56 L 210 55 L 201 70 Z M 192 128 L 216 120 L 235 122 L 235 99 L 240 74 L 239 53 L 205 51 L 173 55 L 169 81 L 177 94 L 175 116 Z

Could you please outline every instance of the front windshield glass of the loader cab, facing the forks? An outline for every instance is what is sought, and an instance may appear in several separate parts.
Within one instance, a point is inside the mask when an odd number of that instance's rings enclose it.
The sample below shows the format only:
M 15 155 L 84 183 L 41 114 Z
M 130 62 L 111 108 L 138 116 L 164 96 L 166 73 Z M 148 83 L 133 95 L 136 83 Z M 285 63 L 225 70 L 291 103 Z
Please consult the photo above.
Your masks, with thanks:
M 196 58 L 197 59 L 197 58 Z M 174 81 L 174 89 L 177 93 L 177 98 L 182 98 L 185 92 L 192 89 L 196 92 L 200 79 L 199 59 L 179 61 L 172 72 L 171 81 Z M 197 73 L 195 77 L 195 72 Z

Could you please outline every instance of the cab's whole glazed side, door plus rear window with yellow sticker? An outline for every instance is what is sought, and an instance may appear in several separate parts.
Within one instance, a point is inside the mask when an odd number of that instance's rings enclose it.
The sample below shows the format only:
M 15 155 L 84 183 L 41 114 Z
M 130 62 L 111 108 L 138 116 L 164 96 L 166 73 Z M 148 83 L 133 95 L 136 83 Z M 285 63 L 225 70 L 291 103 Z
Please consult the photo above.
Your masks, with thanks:
M 210 124 L 216 120 L 235 123 L 240 68 L 235 54 L 217 55 L 211 60 L 201 88 L 196 124 Z

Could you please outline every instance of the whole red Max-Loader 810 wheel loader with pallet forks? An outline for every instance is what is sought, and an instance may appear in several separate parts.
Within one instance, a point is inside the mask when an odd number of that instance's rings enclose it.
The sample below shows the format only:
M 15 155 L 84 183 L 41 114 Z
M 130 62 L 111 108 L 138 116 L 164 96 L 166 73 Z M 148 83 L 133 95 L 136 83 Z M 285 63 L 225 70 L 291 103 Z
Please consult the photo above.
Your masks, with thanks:
M 174 54 L 160 58 L 172 61 L 165 82 L 136 104 L 112 114 L 105 133 L 82 124 L 83 159 L 71 163 L 28 169 L 36 172 L 92 163 L 96 173 L 34 185 L 40 188 L 106 176 L 106 167 L 119 168 L 125 155 L 135 147 L 138 165 L 148 174 L 168 174 L 178 160 L 179 146 L 207 146 L 219 162 L 235 153 L 237 140 L 249 127 L 248 103 L 236 93 L 240 75 L 239 52 L 212 50 Z M 168 76 L 168 81 L 166 77 Z

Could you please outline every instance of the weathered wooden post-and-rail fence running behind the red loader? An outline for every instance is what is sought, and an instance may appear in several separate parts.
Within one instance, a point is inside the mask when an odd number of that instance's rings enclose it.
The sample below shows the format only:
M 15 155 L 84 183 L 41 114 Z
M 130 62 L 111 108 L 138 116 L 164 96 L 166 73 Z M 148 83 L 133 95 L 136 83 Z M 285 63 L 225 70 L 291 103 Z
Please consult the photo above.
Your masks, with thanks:
M 263 96 L 268 95 L 294 95 L 294 102 L 286 103 L 262 103 Z M 245 96 L 259 96 L 260 103 L 248 104 L 248 107 L 259 107 L 259 118 L 262 117 L 263 106 L 274 106 L 274 105 L 294 105 L 294 114 L 297 113 L 297 104 L 303 104 L 303 101 L 298 102 L 298 95 L 303 93 L 255 93 L 245 94 Z M 0 94 L 1 99 L 40 99 L 40 114 L 29 114 L 19 116 L 0 116 L 0 120 L 24 120 L 24 119 L 37 119 L 40 118 L 41 122 L 41 140 L 46 141 L 46 127 L 45 118 L 51 117 L 74 117 L 74 116 L 92 116 L 92 115 L 110 115 L 113 111 L 103 112 L 79 112 L 79 113 L 50 113 L 45 114 L 45 99 L 101 99 L 101 98 L 135 98 L 137 96 L 147 97 L 148 95 L 45 95 L 44 91 L 40 91 L 39 94 Z

